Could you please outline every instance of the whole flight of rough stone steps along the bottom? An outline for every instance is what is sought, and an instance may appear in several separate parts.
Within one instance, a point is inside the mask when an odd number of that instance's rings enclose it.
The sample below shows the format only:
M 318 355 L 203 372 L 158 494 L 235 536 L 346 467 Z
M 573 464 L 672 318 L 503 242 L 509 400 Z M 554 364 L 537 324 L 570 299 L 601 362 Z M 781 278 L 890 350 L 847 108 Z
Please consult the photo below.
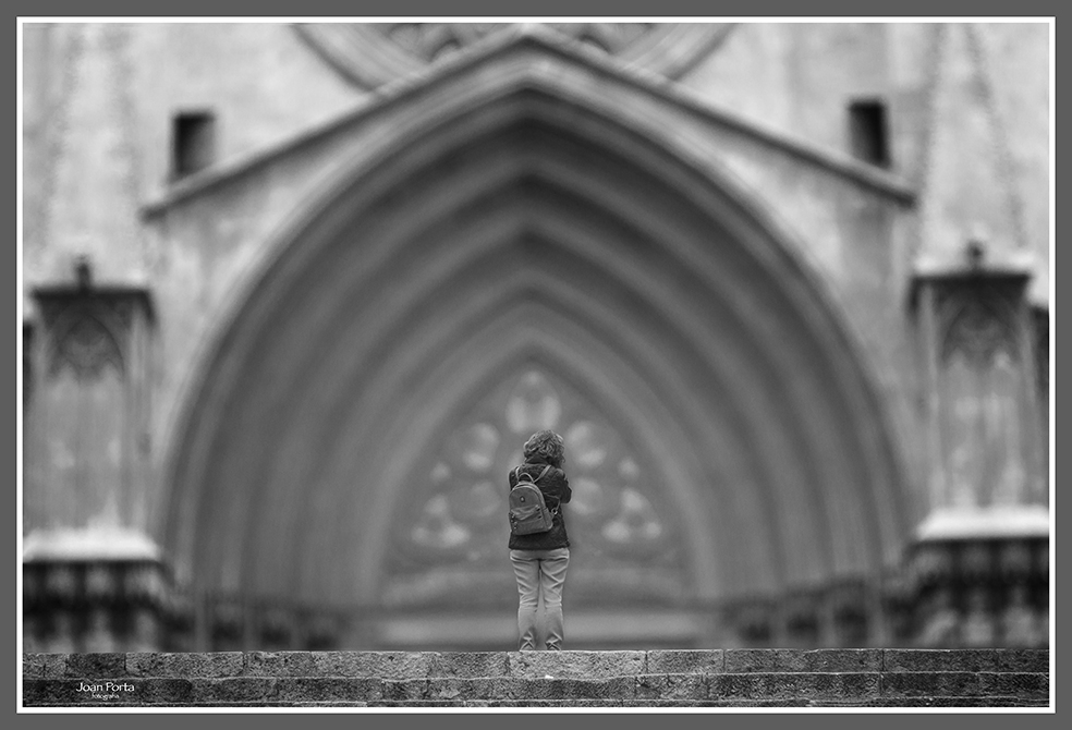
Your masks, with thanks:
M 25 654 L 24 707 L 1047 707 L 1047 649 Z

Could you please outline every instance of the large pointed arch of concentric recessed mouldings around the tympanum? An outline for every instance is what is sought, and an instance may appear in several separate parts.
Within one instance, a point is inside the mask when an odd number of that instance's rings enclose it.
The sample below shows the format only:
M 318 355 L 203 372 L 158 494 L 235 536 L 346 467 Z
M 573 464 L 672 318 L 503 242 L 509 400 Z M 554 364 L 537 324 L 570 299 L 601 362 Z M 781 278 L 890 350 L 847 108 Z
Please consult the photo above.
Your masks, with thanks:
M 896 559 L 906 507 L 881 402 L 762 207 L 569 80 L 449 112 L 362 153 L 219 333 L 172 459 L 179 574 L 375 605 L 414 461 L 531 362 L 643 445 L 693 597 Z

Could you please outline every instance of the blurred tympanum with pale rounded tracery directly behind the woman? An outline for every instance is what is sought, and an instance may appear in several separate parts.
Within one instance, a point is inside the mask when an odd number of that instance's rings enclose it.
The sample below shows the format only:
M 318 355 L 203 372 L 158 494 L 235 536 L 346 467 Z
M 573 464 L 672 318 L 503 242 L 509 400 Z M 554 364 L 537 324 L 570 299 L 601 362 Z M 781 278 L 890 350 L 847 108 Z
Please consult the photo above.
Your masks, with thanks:
M 573 498 L 563 514 L 575 564 L 678 567 L 678 531 L 656 471 L 580 393 L 529 369 L 489 392 L 415 475 L 391 572 L 435 567 L 428 580 L 442 581 L 444 570 L 508 570 L 507 478 L 525 440 L 543 428 L 565 440 Z

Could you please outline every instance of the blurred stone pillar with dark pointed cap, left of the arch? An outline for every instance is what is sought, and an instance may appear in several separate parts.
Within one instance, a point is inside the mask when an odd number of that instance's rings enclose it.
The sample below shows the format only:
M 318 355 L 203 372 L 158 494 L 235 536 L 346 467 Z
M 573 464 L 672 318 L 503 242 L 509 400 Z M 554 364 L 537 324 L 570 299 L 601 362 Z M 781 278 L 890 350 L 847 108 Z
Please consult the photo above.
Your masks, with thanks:
M 151 539 L 146 290 L 94 259 L 34 290 L 25 402 L 24 640 L 31 650 L 160 648 L 166 569 Z

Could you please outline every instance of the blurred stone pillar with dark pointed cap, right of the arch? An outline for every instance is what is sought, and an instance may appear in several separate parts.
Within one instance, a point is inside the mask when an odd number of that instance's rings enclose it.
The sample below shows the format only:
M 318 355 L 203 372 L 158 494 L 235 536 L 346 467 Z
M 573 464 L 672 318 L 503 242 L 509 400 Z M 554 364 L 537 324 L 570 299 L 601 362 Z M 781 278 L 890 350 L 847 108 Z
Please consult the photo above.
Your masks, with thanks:
M 909 550 L 914 641 L 1039 645 L 1049 511 L 1027 285 L 1030 260 L 921 259 L 912 309 L 924 377 L 928 513 Z

